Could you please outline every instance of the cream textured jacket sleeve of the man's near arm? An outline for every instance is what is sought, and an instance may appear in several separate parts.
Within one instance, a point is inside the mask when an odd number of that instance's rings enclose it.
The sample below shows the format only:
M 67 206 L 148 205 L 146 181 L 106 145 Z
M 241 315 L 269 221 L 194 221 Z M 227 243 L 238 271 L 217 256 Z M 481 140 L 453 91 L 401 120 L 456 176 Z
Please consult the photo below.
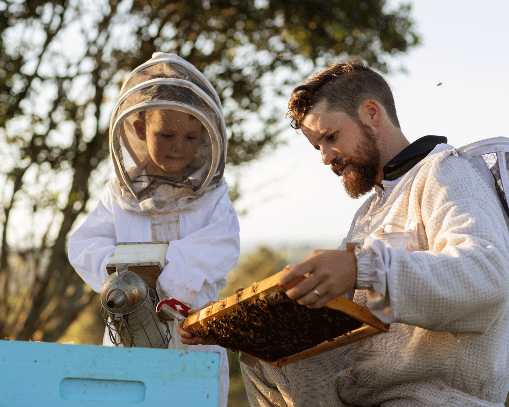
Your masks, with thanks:
M 421 196 L 430 250 L 407 252 L 365 239 L 357 288 L 367 289 L 370 308 L 384 323 L 484 333 L 505 309 L 507 227 L 494 193 L 468 166 L 439 188 L 435 180 L 433 193 Z

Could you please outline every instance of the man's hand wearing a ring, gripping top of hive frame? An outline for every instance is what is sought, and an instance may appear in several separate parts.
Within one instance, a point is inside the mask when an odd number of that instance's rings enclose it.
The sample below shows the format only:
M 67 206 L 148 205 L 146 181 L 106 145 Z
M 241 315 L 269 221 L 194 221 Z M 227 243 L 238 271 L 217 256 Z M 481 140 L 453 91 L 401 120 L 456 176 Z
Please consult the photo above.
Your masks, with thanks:
M 286 294 L 309 308 L 320 308 L 355 288 L 357 260 L 350 251 L 313 250 L 302 263 L 291 266 L 282 275 L 281 285 L 309 273 L 309 277 Z M 315 290 L 320 294 L 316 294 Z

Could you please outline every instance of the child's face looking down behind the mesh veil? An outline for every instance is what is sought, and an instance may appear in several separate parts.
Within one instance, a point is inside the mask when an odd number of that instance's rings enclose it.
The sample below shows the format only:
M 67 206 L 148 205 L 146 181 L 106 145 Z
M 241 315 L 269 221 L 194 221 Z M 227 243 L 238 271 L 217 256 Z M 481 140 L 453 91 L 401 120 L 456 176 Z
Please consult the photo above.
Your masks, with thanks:
M 137 120 L 134 128 L 140 140 L 147 140 L 149 155 L 155 164 L 147 165 L 147 173 L 179 176 L 196 154 L 202 122 L 184 112 L 160 109 L 149 110 L 145 124 Z

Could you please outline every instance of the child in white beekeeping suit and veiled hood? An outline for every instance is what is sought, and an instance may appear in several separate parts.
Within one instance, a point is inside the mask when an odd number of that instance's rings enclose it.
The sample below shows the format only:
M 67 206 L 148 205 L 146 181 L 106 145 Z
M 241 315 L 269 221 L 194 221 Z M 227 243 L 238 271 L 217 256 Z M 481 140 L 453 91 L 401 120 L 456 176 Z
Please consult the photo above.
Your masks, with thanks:
M 191 308 L 217 300 L 239 256 L 239 224 L 223 180 L 227 134 L 210 82 L 175 54 L 155 53 L 122 86 L 110 122 L 117 178 L 69 238 L 69 260 L 96 292 L 118 242 L 165 242 L 160 299 Z M 219 346 L 184 345 L 169 321 L 169 348 L 221 354 L 219 405 L 228 359 Z M 112 346 L 106 331 L 103 345 Z

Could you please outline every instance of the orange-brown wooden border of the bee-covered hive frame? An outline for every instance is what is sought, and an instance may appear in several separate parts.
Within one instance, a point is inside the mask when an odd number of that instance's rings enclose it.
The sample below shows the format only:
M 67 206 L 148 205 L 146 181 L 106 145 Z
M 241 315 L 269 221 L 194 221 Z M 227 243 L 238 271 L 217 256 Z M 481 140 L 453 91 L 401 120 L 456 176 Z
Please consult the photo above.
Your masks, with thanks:
M 351 248 L 348 247 L 347 250 Z M 205 322 L 210 321 L 211 319 L 215 319 L 225 313 L 231 311 L 232 309 L 239 306 L 240 303 L 249 302 L 254 298 L 260 296 L 263 293 L 271 293 L 280 289 L 290 289 L 291 287 L 297 285 L 300 281 L 302 281 L 305 277 L 300 277 L 290 284 L 286 286 L 282 286 L 279 283 L 280 277 L 284 274 L 286 270 L 282 270 L 279 273 L 274 274 L 258 283 L 254 283 L 251 286 L 244 288 L 242 292 L 234 294 L 230 297 L 223 298 L 222 300 L 210 305 L 207 308 L 202 309 L 199 312 L 189 315 L 183 322 L 183 329 L 189 332 L 194 332 L 193 328 L 197 328 L 202 326 Z M 256 356 L 249 355 L 243 351 L 241 360 L 243 356 L 247 356 L 245 358 L 245 363 L 251 364 L 250 362 L 256 362 L 256 359 L 259 359 L 265 363 L 271 364 L 276 367 L 282 367 L 288 365 L 290 363 L 298 362 L 299 360 L 307 359 L 312 356 L 320 355 L 324 352 L 332 351 L 333 349 L 341 346 L 348 345 L 353 342 L 357 342 L 362 339 L 369 338 L 374 335 L 378 335 L 382 332 L 389 331 L 389 325 L 384 324 L 380 319 L 378 319 L 368 308 L 362 307 L 353 301 L 347 300 L 344 297 L 338 297 L 327 304 L 326 307 L 335 309 L 337 311 L 342 311 L 352 318 L 357 319 L 365 326 L 361 326 L 353 331 L 347 332 L 344 335 L 338 336 L 332 340 L 326 340 L 322 343 L 314 347 L 310 347 L 305 351 L 286 356 L 280 358 L 274 362 L 269 362 L 261 358 L 257 358 Z M 205 338 L 207 339 L 207 338 Z M 209 341 L 212 343 L 211 341 Z M 251 359 L 251 360 L 249 360 Z

